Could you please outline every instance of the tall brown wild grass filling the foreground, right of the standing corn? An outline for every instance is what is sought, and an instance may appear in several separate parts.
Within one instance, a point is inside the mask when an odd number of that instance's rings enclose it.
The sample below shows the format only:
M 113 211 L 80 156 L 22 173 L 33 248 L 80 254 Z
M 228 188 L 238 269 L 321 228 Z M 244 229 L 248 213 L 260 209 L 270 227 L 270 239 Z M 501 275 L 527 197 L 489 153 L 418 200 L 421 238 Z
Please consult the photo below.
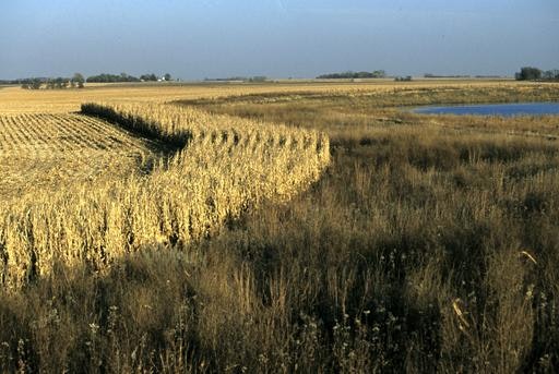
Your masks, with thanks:
M 317 183 L 197 243 L 1 293 L 1 370 L 554 372 L 556 118 L 293 105 L 235 110 L 325 131 Z

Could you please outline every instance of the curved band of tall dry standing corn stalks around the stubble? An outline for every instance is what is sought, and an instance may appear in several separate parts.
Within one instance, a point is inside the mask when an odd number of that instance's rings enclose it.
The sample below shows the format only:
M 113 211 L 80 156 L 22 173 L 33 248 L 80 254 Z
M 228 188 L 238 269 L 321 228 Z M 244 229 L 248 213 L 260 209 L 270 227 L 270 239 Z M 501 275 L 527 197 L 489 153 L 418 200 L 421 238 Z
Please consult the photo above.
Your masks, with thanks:
M 263 200 L 292 197 L 330 161 L 328 137 L 313 131 L 166 105 L 88 105 L 84 112 L 185 147 L 147 177 L 0 203 L 7 288 L 48 277 L 60 263 L 104 272 L 146 245 L 189 248 Z

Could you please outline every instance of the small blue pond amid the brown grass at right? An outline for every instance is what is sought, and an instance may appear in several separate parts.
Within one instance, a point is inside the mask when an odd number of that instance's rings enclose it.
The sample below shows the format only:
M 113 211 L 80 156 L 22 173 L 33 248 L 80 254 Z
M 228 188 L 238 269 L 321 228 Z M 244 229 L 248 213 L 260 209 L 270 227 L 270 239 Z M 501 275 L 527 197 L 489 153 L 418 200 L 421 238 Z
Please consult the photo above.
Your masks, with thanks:
M 559 114 L 559 102 L 488 104 L 454 107 L 419 107 L 413 110 L 421 114 L 457 116 L 544 116 Z

